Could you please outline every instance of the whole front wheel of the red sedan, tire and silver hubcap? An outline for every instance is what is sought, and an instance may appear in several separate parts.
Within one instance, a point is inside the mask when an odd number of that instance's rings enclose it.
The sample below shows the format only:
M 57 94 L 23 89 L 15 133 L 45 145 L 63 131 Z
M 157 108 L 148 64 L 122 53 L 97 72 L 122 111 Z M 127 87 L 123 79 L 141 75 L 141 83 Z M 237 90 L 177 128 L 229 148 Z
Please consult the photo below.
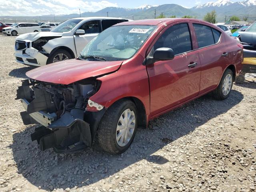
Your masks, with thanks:
M 98 141 L 106 152 L 120 154 L 131 145 L 138 127 L 137 108 L 130 100 L 115 102 L 98 126 Z

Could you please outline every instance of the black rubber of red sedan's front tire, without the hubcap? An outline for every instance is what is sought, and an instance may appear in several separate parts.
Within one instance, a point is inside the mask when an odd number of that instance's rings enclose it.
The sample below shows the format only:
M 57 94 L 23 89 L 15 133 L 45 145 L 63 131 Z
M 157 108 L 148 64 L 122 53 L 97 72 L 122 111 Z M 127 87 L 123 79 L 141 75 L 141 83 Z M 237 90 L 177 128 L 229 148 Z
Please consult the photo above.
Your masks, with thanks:
M 120 116 L 126 109 L 130 109 L 134 112 L 136 123 L 135 123 L 134 132 L 130 141 L 126 144 L 126 146 L 119 146 L 116 141 L 116 127 L 117 127 Z M 112 154 L 123 153 L 131 145 L 134 139 L 134 136 L 136 134 L 137 127 L 138 127 L 138 115 L 137 115 L 137 108 L 134 102 L 127 99 L 119 100 L 115 102 L 105 112 L 98 126 L 98 141 L 101 148 L 104 151 Z

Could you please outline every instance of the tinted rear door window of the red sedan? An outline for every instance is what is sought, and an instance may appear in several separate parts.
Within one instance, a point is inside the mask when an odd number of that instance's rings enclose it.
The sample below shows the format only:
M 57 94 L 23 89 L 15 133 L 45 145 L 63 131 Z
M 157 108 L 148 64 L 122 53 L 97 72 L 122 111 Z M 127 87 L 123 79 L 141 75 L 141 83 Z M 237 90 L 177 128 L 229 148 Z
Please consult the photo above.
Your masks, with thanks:
M 205 25 L 193 24 L 199 48 L 215 44 L 212 29 Z

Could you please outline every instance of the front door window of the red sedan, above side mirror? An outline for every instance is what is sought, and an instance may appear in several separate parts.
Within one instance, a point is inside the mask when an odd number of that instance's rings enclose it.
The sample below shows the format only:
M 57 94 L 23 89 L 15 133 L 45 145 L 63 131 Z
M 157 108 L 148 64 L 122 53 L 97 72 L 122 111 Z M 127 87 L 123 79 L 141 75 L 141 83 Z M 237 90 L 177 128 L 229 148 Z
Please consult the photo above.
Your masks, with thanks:
M 171 48 L 175 55 L 192 50 L 188 24 L 177 24 L 168 28 L 154 44 L 154 50 L 162 47 Z

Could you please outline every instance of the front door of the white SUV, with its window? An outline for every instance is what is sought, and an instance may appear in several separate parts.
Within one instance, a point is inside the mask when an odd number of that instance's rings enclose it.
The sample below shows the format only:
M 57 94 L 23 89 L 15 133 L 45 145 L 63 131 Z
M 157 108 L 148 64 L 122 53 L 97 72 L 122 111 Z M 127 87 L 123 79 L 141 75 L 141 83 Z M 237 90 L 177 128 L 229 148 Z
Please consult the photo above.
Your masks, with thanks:
M 100 20 L 90 20 L 84 22 L 78 29 L 84 30 L 84 35 L 75 35 L 75 46 L 77 56 L 83 50 L 83 48 L 101 32 Z

